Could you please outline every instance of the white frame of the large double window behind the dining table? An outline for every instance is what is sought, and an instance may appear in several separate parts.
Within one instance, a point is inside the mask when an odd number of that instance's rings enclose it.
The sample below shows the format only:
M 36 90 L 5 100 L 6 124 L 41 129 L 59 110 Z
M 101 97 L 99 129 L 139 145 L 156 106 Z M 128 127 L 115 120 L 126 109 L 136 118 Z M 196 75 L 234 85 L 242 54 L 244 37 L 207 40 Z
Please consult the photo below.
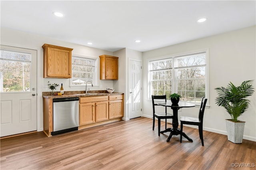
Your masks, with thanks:
M 152 87 L 151 87 L 151 78 L 150 78 L 150 63 L 152 61 L 159 61 L 159 60 L 163 60 L 163 59 L 168 59 L 168 58 L 173 58 L 173 69 L 172 69 L 172 93 L 177 93 L 178 91 L 178 87 L 177 87 L 177 77 L 176 77 L 176 58 L 182 57 L 182 56 L 186 56 L 186 55 L 193 55 L 196 53 L 206 53 L 206 57 L 205 57 L 205 97 L 208 99 L 209 96 L 209 86 L 208 86 L 208 81 L 209 81 L 209 76 L 208 76 L 208 68 L 209 68 L 209 64 L 208 64 L 208 49 L 201 49 L 201 50 L 197 50 L 197 51 L 190 51 L 190 52 L 185 52 L 185 53 L 180 53 L 180 54 L 174 54 L 174 55 L 166 55 L 166 56 L 162 56 L 162 57 L 157 57 L 154 59 L 150 59 L 148 60 L 148 95 L 147 95 L 147 99 L 151 100 L 151 95 L 152 95 Z M 194 103 L 194 104 L 200 104 L 200 103 L 195 103 L 195 102 L 190 102 L 190 103 Z M 208 102 L 209 103 L 209 100 Z

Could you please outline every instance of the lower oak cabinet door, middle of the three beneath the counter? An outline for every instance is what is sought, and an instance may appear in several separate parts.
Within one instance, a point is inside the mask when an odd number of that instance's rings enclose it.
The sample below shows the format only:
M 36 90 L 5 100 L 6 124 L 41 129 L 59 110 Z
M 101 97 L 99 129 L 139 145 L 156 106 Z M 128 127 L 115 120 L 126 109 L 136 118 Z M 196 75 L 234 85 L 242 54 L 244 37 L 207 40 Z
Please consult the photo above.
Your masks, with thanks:
M 96 122 L 108 120 L 108 101 L 96 103 L 95 117 Z

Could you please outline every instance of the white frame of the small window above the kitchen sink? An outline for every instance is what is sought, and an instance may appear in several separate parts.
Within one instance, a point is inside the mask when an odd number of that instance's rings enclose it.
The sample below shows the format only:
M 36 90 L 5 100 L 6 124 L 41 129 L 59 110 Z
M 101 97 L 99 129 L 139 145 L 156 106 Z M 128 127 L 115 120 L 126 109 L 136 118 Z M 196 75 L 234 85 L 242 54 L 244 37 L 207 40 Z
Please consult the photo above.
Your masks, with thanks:
M 98 69 L 98 63 L 99 63 L 99 59 L 98 57 L 91 57 L 91 56 L 87 56 L 87 55 L 77 55 L 77 54 L 72 54 L 72 61 L 73 61 L 73 57 L 80 57 L 80 58 L 86 58 L 86 59 L 90 59 L 90 60 L 94 60 L 94 76 L 93 76 L 93 85 L 94 86 L 98 86 L 99 84 L 99 69 Z M 73 67 L 73 63 L 72 63 L 72 67 Z M 83 85 L 73 85 L 72 83 L 73 81 L 73 77 L 70 79 L 70 87 L 85 87 L 86 84 Z

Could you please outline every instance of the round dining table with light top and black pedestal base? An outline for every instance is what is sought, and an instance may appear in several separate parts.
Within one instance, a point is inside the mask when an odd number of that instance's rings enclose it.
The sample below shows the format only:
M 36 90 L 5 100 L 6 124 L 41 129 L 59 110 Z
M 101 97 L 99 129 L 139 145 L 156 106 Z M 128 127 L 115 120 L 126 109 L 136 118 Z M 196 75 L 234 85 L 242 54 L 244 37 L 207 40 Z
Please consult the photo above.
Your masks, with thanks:
M 172 102 L 169 102 L 169 101 L 160 102 L 160 103 L 157 103 L 157 105 L 164 106 L 164 107 L 171 107 L 172 112 L 173 112 L 172 128 L 167 128 L 166 130 L 163 130 L 160 132 L 160 133 L 170 132 L 170 135 L 167 138 L 167 142 L 170 141 L 170 139 L 172 138 L 172 135 L 181 134 L 180 128 L 178 128 L 178 126 L 179 126 L 178 110 L 183 107 L 195 107 L 196 106 L 196 105 L 194 105 L 192 103 L 188 103 L 188 102 L 179 102 L 178 105 L 174 105 L 174 104 L 172 104 Z M 182 132 L 182 136 L 184 136 L 190 142 L 193 142 L 193 140 L 191 138 L 189 138 L 188 135 L 186 135 L 186 133 Z

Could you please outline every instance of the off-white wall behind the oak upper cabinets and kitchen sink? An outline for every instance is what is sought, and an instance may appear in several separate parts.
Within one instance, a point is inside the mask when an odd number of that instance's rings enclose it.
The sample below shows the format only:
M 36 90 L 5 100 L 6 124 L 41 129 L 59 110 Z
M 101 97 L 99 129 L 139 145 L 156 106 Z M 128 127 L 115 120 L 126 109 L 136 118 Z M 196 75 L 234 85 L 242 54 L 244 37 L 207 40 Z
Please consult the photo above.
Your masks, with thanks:
M 43 90 L 43 87 L 47 85 L 47 82 L 50 83 L 63 83 L 64 91 L 84 91 L 85 87 L 70 88 L 69 83 L 70 79 L 57 79 L 57 78 L 43 78 L 43 48 L 44 43 L 58 45 L 62 47 L 73 48 L 72 54 L 77 55 L 86 55 L 90 57 L 99 58 L 100 55 L 113 55 L 113 52 L 105 51 L 102 49 L 96 49 L 88 46 L 78 45 L 69 42 L 62 42 L 54 40 L 49 37 L 38 36 L 34 34 L 27 34 L 24 32 L 18 32 L 15 30 L 1 28 L 1 44 L 2 45 L 11 45 L 14 47 L 24 47 L 28 49 L 38 50 L 38 64 L 37 64 L 37 74 L 38 74 L 38 131 L 43 130 L 43 101 L 42 101 L 42 92 L 50 91 Z M 98 60 L 99 62 L 99 60 Z M 106 87 L 113 88 L 113 80 L 100 80 L 99 86 L 90 87 L 90 90 L 105 90 Z

